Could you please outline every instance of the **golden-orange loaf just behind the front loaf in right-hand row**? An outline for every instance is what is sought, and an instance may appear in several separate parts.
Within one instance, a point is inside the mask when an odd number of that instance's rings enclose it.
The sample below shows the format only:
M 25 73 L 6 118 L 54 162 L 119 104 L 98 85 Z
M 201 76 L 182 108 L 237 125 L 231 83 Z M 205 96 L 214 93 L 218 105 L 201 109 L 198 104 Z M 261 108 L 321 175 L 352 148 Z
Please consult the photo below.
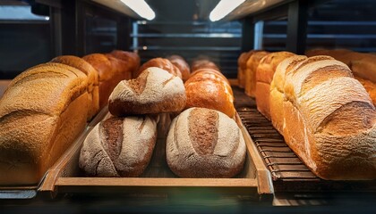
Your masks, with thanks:
M 286 58 L 293 56 L 294 53 L 275 52 L 265 55 L 256 70 L 256 104 L 257 110 L 270 120 L 270 83 L 273 79 L 274 72 L 279 64 Z

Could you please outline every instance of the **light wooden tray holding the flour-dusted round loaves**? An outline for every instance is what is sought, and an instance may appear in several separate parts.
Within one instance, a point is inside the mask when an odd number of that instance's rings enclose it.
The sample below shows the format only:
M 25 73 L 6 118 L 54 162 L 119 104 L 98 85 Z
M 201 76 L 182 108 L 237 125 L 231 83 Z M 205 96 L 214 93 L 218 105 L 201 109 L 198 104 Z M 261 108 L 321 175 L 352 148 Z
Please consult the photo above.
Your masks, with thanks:
M 100 116 L 100 115 L 99 115 Z M 109 113 L 104 117 L 109 117 Z M 269 170 L 261 160 L 251 137 L 236 115 L 236 122 L 242 130 L 247 145 L 243 171 L 234 178 L 182 178 L 168 169 L 165 152 L 166 133 L 158 130 L 158 140 L 150 165 L 141 177 L 84 177 L 78 167 L 81 144 L 95 126 L 91 124 L 75 144 L 68 149 L 48 171 L 38 192 L 47 197 L 64 193 L 103 194 L 155 194 L 214 193 L 225 195 L 256 195 L 259 199 L 272 198 L 273 186 Z M 98 122 L 98 119 L 96 120 Z

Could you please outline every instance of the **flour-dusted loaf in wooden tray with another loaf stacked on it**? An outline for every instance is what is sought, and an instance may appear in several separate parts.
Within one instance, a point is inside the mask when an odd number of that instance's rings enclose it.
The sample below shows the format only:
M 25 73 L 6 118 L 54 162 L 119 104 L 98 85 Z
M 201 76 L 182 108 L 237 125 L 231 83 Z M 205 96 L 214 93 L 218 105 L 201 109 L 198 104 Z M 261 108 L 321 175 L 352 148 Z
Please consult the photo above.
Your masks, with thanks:
M 157 141 L 157 121 L 149 116 L 111 117 L 86 137 L 79 166 L 90 177 L 139 177 Z

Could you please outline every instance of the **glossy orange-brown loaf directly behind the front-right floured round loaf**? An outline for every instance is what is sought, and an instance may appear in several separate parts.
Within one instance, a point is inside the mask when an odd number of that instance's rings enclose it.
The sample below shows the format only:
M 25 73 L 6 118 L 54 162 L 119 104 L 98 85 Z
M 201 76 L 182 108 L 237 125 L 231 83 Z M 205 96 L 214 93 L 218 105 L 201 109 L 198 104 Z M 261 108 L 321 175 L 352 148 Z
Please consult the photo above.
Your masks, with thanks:
M 217 69 L 215 69 L 217 68 Z M 209 61 L 192 66 L 192 75 L 185 83 L 187 103 L 185 108 L 202 107 L 235 115 L 234 95 L 226 77 Z

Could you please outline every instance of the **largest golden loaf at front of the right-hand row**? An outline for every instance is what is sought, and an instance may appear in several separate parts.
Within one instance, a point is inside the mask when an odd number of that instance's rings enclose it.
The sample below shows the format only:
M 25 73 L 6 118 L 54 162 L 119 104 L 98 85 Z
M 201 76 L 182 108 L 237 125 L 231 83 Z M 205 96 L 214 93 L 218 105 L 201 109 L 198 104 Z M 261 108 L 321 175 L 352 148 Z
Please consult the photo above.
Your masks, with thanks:
M 321 178 L 375 179 L 375 107 L 346 64 L 315 56 L 285 74 L 283 134 L 290 148 Z

